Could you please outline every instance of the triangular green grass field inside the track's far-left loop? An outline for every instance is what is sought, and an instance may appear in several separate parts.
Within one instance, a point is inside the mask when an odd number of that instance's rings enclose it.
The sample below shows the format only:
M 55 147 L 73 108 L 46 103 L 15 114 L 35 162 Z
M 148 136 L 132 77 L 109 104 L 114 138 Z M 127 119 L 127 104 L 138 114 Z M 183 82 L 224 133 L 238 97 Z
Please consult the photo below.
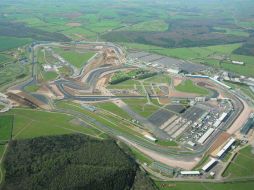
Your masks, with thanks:
M 94 52 L 79 53 L 74 50 L 65 51 L 60 48 L 55 48 L 54 50 L 77 68 L 81 68 L 95 54 Z

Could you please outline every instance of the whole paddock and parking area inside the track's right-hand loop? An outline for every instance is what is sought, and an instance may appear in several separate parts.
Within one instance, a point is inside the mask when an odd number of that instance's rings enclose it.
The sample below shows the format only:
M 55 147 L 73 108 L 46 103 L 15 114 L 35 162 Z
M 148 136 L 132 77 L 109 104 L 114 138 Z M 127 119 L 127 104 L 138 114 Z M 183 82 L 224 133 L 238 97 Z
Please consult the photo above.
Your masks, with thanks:
M 206 144 L 215 131 L 222 130 L 232 110 L 230 100 L 198 102 L 191 107 L 173 104 L 158 110 L 148 120 L 172 139 L 197 149 Z

